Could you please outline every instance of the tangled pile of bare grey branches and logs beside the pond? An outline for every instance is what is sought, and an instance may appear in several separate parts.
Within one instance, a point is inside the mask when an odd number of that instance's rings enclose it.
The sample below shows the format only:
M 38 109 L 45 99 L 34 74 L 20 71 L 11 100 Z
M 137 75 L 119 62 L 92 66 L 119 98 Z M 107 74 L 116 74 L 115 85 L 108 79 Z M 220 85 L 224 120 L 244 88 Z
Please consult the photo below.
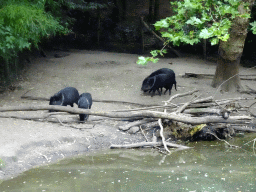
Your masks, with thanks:
M 64 106 L 56 106 L 56 105 L 30 105 L 30 106 L 12 106 L 12 107 L 1 107 L 0 112 L 7 111 L 38 111 L 38 110 L 54 110 L 59 112 L 68 112 L 72 114 L 80 114 L 86 113 L 94 116 L 104 116 L 110 118 L 126 118 L 126 119 L 140 119 L 138 121 L 134 121 L 125 126 L 120 126 L 121 130 L 128 130 L 131 127 L 142 125 L 149 122 L 157 122 L 160 126 L 160 136 L 162 138 L 161 142 L 154 141 L 143 142 L 139 144 L 131 144 L 131 145 L 112 145 L 111 148 L 131 148 L 131 147 L 141 147 L 141 146 L 159 146 L 163 145 L 167 152 L 170 152 L 169 147 L 175 147 L 179 149 L 187 149 L 188 147 L 177 145 L 173 143 L 168 143 L 164 138 L 164 128 L 162 125 L 162 120 L 171 120 L 176 122 L 182 122 L 190 125 L 200 125 L 200 124 L 231 124 L 234 127 L 237 127 L 237 130 L 242 131 L 251 131 L 254 132 L 254 129 L 245 129 L 241 128 L 239 125 L 249 125 L 252 124 L 254 119 L 253 114 L 250 114 L 250 107 L 247 109 L 243 109 L 239 106 L 239 102 L 241 100 L 254 100 L 255 98 L 233 98 L 233 99 L 223 99 L 223 100 L 214 100 L 212 97 L 207 97 L 203 99 L 198 99 L 195 93 L 198 90 L 193 90 L 190 92 L 186 92 L 183 94 L 176 94 L 172 96 L 168 101 L 164 101 L 164 104 L 161 106 L 150 106 L 150 107 L 142 107 L 135 108 L 130 110 L 119 110 L 119 111 L 95 111 L 89 109 L 79 109 L 79 108 L 71 108 Z M 187 103 L 173 104 L 172 101 L 178 97 L 184 97 L 188 95 L 193 95 L 190 101 Z M 36 98 L 28 98 L 26 99 L 36 99 Z M 37 98 L 39 100 L 49 100 L 48 98 Z M 95 101 L 94 102 L 112 102 L 116 103 L 116 101 Z M 127 103 L 125 104 L 134 104 Z M 245 111 L 243 115 L 241 115 L 242 111 Z M 53 113 L 54 114 L 54 113 Z M 53 115 L 52 113 L 45 113 L 43 116 L 27 116 L 27 115 L 9 115 L 0 114 L 2 118 L 18 118 L 18 119 L 27 119 L 27 120 L 36 120 L 36 119 L 46 119 Z M 200 115 L 199 115 L 200 114 Z M 202 115 L 203 114 L 203 115 Z

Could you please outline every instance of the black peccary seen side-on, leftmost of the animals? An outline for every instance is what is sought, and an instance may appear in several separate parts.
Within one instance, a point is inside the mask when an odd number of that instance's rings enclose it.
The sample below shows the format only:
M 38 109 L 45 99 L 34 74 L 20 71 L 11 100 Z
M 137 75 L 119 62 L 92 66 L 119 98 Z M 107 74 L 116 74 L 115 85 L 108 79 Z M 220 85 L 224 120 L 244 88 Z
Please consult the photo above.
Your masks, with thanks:
M 79 93 L 77 89 L 74 87 L 66 87 L 50 98 L 49 105 L 61 105 L 61 106 L 70 105 L 71 107 L 73 107 L 74 103 L 78 105 L 78 99 L 79 99 Z M 49 111 L 53 112 L 53 110 L 49 110 Z

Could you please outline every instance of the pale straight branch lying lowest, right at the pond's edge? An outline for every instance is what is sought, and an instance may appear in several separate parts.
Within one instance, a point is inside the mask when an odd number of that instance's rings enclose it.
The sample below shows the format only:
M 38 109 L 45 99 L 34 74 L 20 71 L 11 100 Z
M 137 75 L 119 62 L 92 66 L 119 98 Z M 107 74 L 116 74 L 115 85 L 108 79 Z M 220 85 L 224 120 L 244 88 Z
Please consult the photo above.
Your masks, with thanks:
M 114 149 L 114 148 L 138 148 L 138 147 L 153 147 L 153 146 L 162 146 L 163 143 L 162 142 L 141 142 L 141 143 L 132 143 L 132 144 L 127 144 L 127 145 L 114 145 L 112 144 L 110 146 L 110 149 Z M 174 148 L 179 148 L 179 149 L 191 149 L 191 147 L 187 147 L 184 145 L 178 145 L 178 144 L 174 144 L 174 143 L 169 143 L 166 142 L 166 145 L 168 147 L 174 147 Z

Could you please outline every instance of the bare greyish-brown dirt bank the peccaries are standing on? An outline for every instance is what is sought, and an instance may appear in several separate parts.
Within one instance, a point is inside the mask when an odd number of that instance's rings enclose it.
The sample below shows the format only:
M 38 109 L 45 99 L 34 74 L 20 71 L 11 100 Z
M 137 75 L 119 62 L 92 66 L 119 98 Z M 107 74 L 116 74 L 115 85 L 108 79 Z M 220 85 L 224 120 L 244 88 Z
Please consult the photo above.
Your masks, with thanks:
M 205 62 L 192 56 L 164 58 L 159 63 L 147 66 L 136 64 L 138 55 L 102 51 L 72 50 L 62 52 L 65 57 L 56 58 L 53 52 L 46 58 L 37 58 L 28 64 L 18 88 L 0 95 L 0 107 L 22 105 L 47 105 L 47 101 L 25 100 L 24 94 L 34 97 L 50 97 L 64 87 L 76 87 L 79 93 L 90 92 L 94 100 L 116 100 L 146 105 L 161 105 L 168 94 L 150 97 L 141 92 L 143 79 L 154 70 L 167 67 L 176 73 L 177 90 L 172 95 L 193 89 L 200 90 L 201 97 L 215 99 L 248 97 L 239 93 L 220 93 L 210 86 L 211 79 L 182 78 L 185 72 L 214 74 L 216 63 Z M 241 74 L 255 74 L 256 69 L 241 68 Z M 242 81 L 243 85 L 255 88 L 255 81 Z M 191 96 L 190 96 L 191 97 Z M 190 97 L 174 100 L 188 101 Z M 77 106 L 75 106 L 77 107 Z M 93 110 L 111 111 L 130 109 L 135 106 L 94 102 Z M 10 112 L 33 115 L 41 112 Z M 1 113 L 2 115 L 7 113 Z M 129 134 L 118 129 L 125 121 L 102 119 L 90 116 L 88 123 L 75 123 L 78 115 L 60 116 L 74 120 L 73 126 L 63 126 L 47 120 L 32 121 L 0 118 L 0 179 L 13 177 L 37 165 L 56 162 L 65 157 L 104 150 L 111 144 L 144 141 L 141 133 Z

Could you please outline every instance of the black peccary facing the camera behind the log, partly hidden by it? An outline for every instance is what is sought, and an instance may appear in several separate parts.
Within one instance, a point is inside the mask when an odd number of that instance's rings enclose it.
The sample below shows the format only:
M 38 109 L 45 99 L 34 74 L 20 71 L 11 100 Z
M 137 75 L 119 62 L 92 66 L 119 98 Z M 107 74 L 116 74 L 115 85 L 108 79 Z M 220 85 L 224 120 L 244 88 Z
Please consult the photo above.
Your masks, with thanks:
M 78 108 L 82 109 L 91 109 L 92 106 L 92 96 L 90 93 L 83 93 L 80 95 L 78 100 Z M 80 121 L 87 120 L 89 115 L 79 114 Z

